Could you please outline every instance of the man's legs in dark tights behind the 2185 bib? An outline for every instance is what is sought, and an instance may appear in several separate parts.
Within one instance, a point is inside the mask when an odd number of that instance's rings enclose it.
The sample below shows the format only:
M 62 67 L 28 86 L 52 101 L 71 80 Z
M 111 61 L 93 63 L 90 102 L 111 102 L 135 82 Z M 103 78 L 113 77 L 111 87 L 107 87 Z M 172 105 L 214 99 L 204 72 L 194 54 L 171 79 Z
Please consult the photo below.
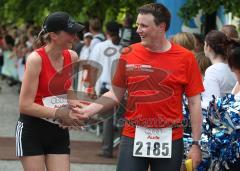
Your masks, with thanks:
M 147 171 L 149 164 L 151 171 L 179 171 L 183 158 L 183 140 L 179 139 L 172 143 L 172 157 L 144 158 L 133 157 L 134 139 L 123 136 L 120 144 L 117 171 Z

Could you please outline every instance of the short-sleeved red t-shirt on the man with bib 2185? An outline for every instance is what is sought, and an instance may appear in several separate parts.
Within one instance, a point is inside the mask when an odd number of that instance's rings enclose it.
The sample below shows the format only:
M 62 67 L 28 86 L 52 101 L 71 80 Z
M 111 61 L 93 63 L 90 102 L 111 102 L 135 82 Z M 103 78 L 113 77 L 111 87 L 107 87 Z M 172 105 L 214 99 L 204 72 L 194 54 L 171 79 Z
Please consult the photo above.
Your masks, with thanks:
M 140 43 L 120 57 L 113 85 L 126 88 L 128 100 L 123 135 L 134 137 L 135 125 L 165 128 L 182 123 L 182 96 L 204 91 L 198 64 L 192 52 L 172 44 L 166 52 L 151 52 Z M 173 128 L 173 140 L 183 128 Z

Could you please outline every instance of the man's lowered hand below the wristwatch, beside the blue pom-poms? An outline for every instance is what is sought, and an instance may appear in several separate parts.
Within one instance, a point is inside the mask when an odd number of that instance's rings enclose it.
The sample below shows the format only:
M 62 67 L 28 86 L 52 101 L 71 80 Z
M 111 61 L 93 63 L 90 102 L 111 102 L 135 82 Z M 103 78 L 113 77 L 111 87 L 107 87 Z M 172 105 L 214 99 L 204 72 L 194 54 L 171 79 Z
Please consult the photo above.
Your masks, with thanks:
M 192 145 L 189 153 L 188 153 L 188 159 L 192 159 L 193 161 L 193 169 L 196 169 L 197 166 L 202 161 L 202 152 L 200 149 L 200 146 L 198 145 Z

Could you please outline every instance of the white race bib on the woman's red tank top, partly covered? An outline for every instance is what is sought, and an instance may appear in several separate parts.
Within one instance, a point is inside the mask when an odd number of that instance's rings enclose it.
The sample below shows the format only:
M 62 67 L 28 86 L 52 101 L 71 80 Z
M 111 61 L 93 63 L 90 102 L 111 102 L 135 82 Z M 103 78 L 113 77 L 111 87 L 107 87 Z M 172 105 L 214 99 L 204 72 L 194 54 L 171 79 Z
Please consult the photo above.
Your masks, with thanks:
M 42 101 L 44 106 L 50 108 L 60 108 L 68 105 L 66 94 L 45 97 Z

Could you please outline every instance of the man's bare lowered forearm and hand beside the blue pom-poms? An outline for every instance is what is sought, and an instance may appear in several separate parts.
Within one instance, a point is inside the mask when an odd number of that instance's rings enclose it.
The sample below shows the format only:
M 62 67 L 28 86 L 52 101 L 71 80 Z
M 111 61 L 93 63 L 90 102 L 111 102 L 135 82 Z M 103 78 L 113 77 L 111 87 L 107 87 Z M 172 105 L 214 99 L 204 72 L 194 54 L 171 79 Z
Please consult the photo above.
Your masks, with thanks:
M 199 141 L 202 133 L 202 111 L 200 94 L 188 97 L 189 111 L 191 116 L 192 138 L 193 141 Z M 193 168 L 197 168 L 202 160 L 201 148 L 199 145 L 193 144 L 188 158 L 193 160 Z

